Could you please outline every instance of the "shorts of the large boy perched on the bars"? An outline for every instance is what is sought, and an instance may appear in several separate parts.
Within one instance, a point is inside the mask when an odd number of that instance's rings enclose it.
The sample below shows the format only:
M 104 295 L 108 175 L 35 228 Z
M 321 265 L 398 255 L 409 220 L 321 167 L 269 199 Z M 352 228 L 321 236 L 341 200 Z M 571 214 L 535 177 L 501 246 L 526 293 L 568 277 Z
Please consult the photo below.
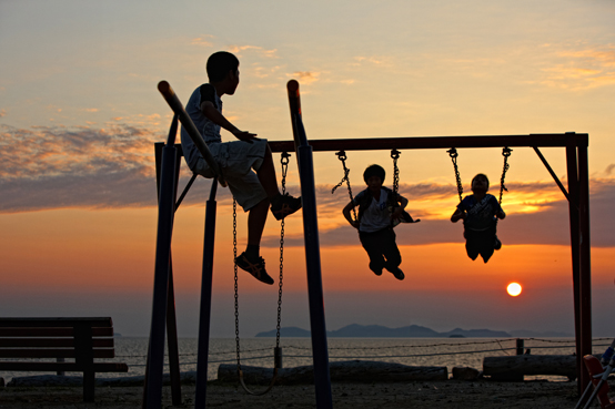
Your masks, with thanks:
M 222 168 L 231 193 L 244 212 L 268 197 L 259 176 L 252 172 L 252 170 L 258 171 L 263 164 L 266 146 L 266 140 L 252 141 L 252 143 L 232 141 L 208 145 Z M 202 157 L 199 157 L 199 162 L 192 171 L 205 177 L 213 177 L 211 168 Z

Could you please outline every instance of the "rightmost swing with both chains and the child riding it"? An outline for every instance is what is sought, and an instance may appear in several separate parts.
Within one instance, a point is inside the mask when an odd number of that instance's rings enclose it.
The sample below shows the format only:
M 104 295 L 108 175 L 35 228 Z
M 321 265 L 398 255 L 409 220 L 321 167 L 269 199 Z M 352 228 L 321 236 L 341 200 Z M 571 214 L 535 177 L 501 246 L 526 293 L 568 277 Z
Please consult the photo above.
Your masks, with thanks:
M 460 219 L 464 221 L 464 238 L 466 241 L 465 249 L 467 256 L 472 260 L 475 260 L 476 257 L 481 255 L 483 260 L 487 263 L 493 252 L 502 247 L 502 242 L 496 235 L 496 227 L 497 219 L 506 217 L 501 205 L 504 191 L 508 191 L 504 183 L 506 172 L 510 167 L 508 157 L 513 151 L 507 146 L 502 150 L 504 166 L 500 178 L 500 200 L 496 200 L 495 196 L 487 193 L 490 187 L 488 177 L 482 173 L 472 178 L 471 186 L 473 194 L 463 197 L 463 186 L 457 167 L 457 150 L 452 147 L 446 152 L 453 162 L 457 193 L 460 196 L 460 204 L 451 216 L 451 222 L 456 223 Z

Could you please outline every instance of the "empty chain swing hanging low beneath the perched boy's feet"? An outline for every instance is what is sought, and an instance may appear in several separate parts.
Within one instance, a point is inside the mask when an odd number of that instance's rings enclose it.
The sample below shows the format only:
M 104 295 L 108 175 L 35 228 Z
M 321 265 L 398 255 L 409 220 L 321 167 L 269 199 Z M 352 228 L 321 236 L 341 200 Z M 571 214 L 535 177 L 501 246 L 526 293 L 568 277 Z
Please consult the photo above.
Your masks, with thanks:
M 282 164 L 282 195 L 286 193 L 286 172 L 289 168 L 289 157 L 291 155 L 286 152 L 282 153 L 282 159 L 280 160 Z M 280 280 L 279 280 L 279 289 L 278 289 L 278 324 L 275 326 L 276 333 L 275 333 L 275 347 L 273 349 L 273 376 L 271 378 L 271 382 L 269 384 L 268 388 L 255 392 L 252 391 L 248 386 L 245 385 L 245 381 L 243 379 L 243 370 L 241 369 L 241 348 L 240 348 L 240 337 L 239 337 L 239 280 L 238 280 L 238 265 L 234 264 L 234 290 L 235 290 L 235 350 L 236 350 L 236 368 L 238 368 L 238 376 L 239 381 L 241 384 L 241 387 L 245 392 L 253 396 L 262 396 L 269 392 L 273 385 L 275 384 L 275 380 L 278 378 L 278 371 L 280 368 L 282 368 L 282 348 L 280 347 L 280 324 L 282 320 L 282 280 L 283 280 L 283 272 L 284 272 L 284 223 L 285 219 L 281 219 L 281 232 L 280 232 Z M 238 256 L 238 239 L 236 239 L 236 201 L 233 198 L 233 259 L 236 259 Z

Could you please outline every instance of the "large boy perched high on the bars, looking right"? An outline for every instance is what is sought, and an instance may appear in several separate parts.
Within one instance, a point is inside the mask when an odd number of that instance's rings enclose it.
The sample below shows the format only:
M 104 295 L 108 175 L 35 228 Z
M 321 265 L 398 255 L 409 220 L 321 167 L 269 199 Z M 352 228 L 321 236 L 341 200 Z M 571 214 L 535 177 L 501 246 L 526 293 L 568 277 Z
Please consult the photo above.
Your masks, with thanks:
M 301 208 L 301 198 L 280 194 L 271 149 L 255 133 L 241 131 L 222 115 L 222 95 L 233 95 L 239 85 L 239 60 L 230 52 L 219 51 L 208 59 L 209 83 L 198 86 L 185 111 L 196 125 L 236 202 L 248 215 L 248 247 L 235 258 L 241 269 L 258 280 L 273 284 L 260 256 L 260 244 L 266 216 L 282 219 Z M 239 141 L 222 142 L 220 129 Z M 204 177 L 213 173 L 188 132 L 181 131 L 182 149 L 188 166 Z

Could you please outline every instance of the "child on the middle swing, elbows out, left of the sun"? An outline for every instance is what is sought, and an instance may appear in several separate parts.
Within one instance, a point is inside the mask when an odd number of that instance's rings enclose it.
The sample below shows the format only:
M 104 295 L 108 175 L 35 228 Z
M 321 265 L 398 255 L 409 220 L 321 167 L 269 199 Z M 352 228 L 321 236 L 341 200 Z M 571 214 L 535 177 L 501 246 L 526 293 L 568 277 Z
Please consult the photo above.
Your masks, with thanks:
M 376 276 L 386 268 L 395 278 L 404 279 L 400 269 L 402 256 L 395 243 L 393 225 L 400 221 L 412 223 L 412 217 L 404 212 L 407 198 L 384 187 L 385 172 L 382 166 L 367 166 L 363 180 L 367 188 L 359 193 L 342 211 L 346 221 L 359 229 L 359 238 L 370 256 L 370 269 Z M 352 219 L 351 211 L 359 206 L 359 217 Z

